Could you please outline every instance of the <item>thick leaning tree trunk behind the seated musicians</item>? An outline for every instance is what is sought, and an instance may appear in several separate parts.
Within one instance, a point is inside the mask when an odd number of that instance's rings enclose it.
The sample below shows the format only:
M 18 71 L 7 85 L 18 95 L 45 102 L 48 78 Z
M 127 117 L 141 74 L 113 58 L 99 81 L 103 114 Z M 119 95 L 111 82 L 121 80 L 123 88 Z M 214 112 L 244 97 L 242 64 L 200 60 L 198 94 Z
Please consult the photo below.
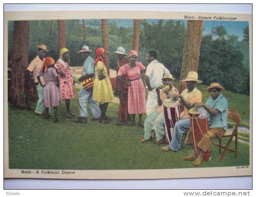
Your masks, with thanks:
M 202 20 L 188 20 L 180 80 L 184 80 L 187 77 L 189 71 L 197 72 L 202 41 L 202 25 Z M 185 88 L 187 88 L 186 83 L 180 82 L 179 92 L 182 93 Z

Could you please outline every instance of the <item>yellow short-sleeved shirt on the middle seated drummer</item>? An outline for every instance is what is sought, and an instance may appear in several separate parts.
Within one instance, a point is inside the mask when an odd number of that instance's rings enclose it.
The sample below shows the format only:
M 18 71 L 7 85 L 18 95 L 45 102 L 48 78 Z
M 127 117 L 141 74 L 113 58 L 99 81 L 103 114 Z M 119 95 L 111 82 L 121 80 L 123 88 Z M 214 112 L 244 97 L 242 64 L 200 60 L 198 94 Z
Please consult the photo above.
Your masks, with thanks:
M 191 92 L 186 88 L 182 92 L 182 97 L 189 102 L 192 103 L 200 103 L 202 102 L 202 93 L 197 89 L 194 88 Z M 180 100 L 180 98 L 178 98 Z M 184 106 L 184 110 L 180 113 L 180 118 L 188 118 L 189 117 L 189 110 Z

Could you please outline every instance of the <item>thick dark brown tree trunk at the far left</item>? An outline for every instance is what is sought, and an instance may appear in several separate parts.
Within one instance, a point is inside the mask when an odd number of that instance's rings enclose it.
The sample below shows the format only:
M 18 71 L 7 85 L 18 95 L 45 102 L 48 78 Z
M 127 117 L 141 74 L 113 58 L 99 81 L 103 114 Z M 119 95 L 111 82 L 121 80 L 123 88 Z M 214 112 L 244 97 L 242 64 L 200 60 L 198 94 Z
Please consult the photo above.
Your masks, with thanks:
M 29 21 L 14 21 L 12 54 L 9 67 L 12 68 L 10 102 L 16 107 L 30 109 L 28 104 L 29 86 L 25 82 L 28 67 Z

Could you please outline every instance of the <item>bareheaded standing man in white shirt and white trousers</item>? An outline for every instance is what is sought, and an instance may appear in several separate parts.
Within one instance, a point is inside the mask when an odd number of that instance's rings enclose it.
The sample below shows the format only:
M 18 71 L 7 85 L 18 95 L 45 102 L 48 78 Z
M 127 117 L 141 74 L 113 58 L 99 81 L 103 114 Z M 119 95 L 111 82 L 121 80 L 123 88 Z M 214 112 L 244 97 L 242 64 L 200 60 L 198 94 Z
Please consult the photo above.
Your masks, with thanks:
M 147 66 L 144 76 L 147 87 L 149 88 L 146 104 L 147 115 L 154 112 L 157 106 L 157 93 L 155 88 L 162 84 L 163 75 L 170 73 L 170 71 L 163 64 L 159 63 L 156 58 L 156 51 L 149 51 L 147 53 L 146 59 L 150 63 Z

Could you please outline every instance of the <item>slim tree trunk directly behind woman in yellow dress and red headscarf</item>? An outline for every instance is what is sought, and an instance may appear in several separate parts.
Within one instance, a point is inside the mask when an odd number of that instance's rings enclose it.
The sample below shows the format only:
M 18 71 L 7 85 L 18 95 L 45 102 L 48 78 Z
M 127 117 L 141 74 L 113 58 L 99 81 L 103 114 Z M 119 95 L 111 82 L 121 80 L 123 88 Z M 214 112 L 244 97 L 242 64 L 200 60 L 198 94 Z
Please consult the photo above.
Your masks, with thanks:
M 105 49 L 105 63 L 107 75 L 109 76 L 109 33 L 107 28 L 107 19 L 101 19 L 102 47 Z

